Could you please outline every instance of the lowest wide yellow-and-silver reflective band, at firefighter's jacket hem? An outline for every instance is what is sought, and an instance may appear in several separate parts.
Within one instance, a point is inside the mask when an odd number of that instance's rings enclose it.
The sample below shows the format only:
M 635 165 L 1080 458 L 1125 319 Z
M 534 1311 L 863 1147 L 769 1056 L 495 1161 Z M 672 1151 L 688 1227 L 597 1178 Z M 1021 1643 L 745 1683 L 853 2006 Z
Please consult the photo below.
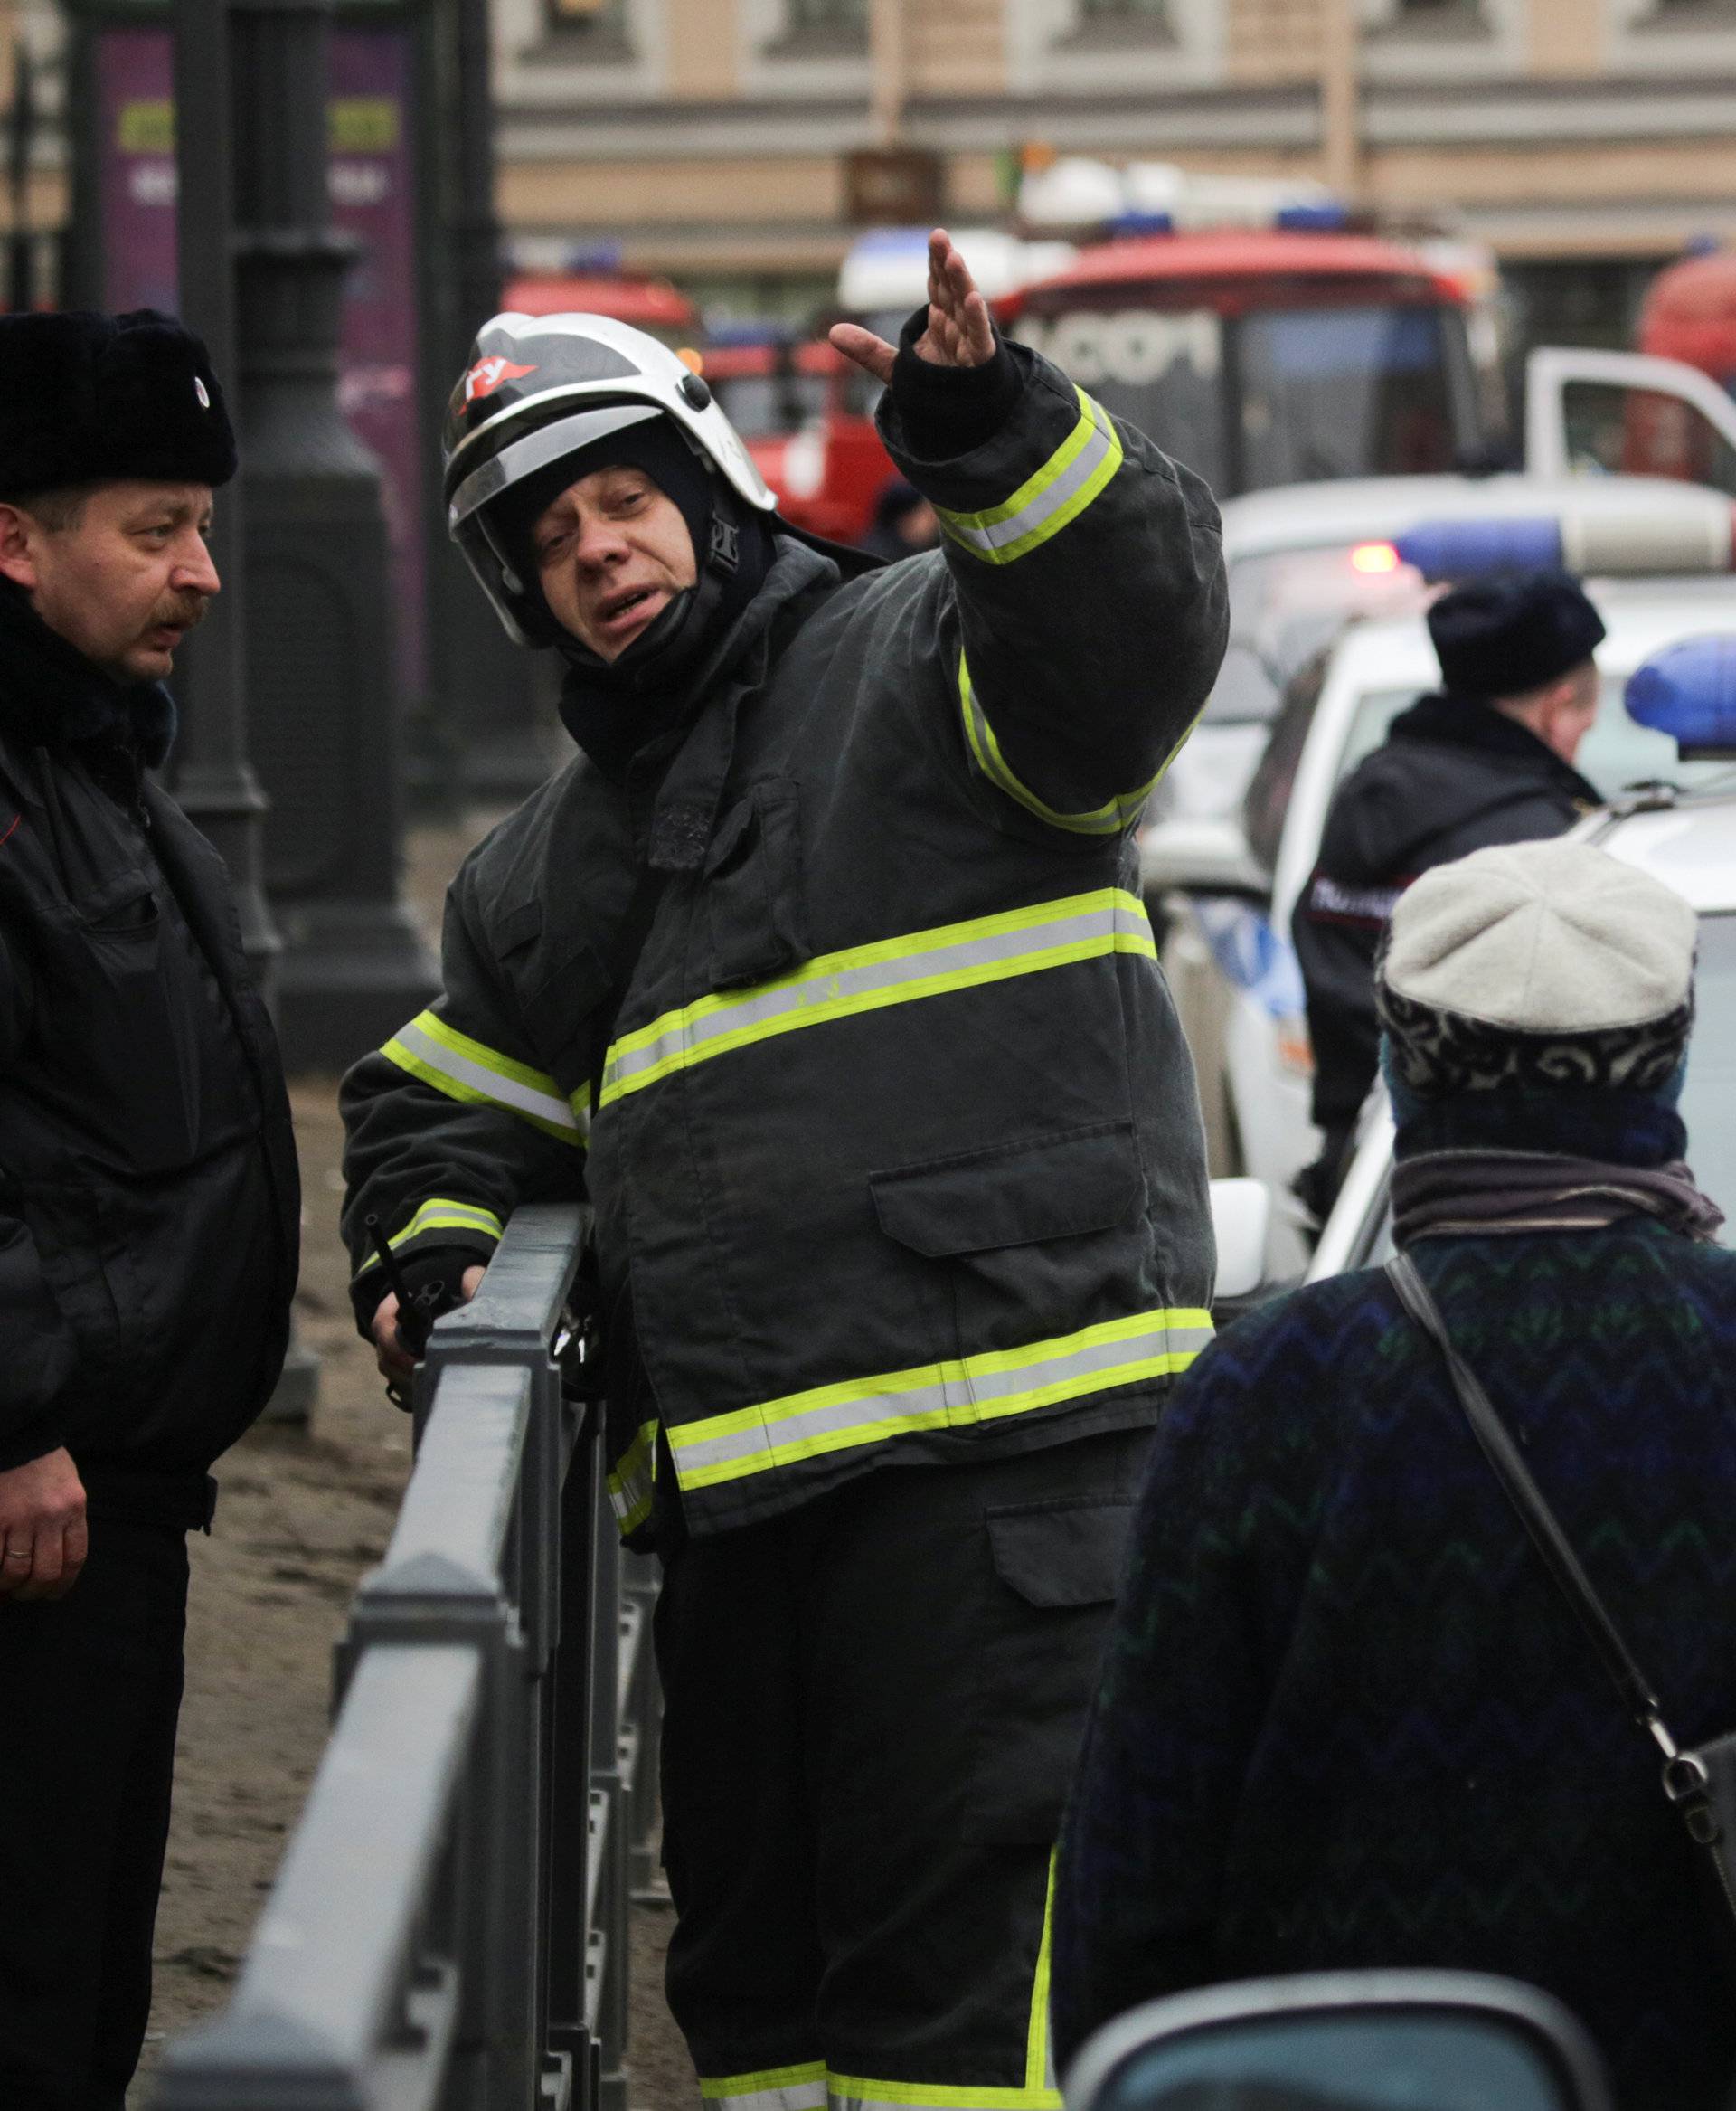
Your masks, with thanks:
M 1204 1319 L 1204 1315 L 1200 1315 Z M 1091 1332 L 1091 1330 L 1086 1330 Z M 1078 1340 L 1078 1336 L 1069 1336 Z M 1173 1326 L 1169 1313 L 1154 1313 L 1139 1332 L 1118 1332 L 1078 1347 L 1057 1343 L 1057 1353 L 1021 1359 L 998 1370 L 1004 1355 L 966 1357 L 960 1364 L 932 1364 L 924 1370 L 894 1374 L 892 1381 L 865 1381 L 863 1389 L 827 1387 L 814 1406 L 804 1408 L 795 1395 L 789 1408 L 770 1402 L 745 1429 L 707 1438 L 705 1423 L 669 1431 L 677 1480 L 728 1480 L 730 1467 L 753 1471 L 778 1463 L 778 1454 L 799 1457 L 806 1450 L 837 1450 L 848 1431 L 852 1444 L 873 1444 L 899 1435 L 903 1427 L 937 1427 L 939 1423 L 994 1421 L 1021 1412 L 1025 1406 L 1046 1406 L 1053 1387 L 1091 1391 L 1093 1378 L 1105 1385 L 1135 1385 L 1156 1376 L 1152 1366 L 1183 1368 L 1211 1340 L 1211 1326 Z M 896 1378 L 907 1376 L 907 1385 Z M 736 1421 L 734 1414 L 728 1421 Z M 721 1471 L 719 1471 L 721 1469 Z

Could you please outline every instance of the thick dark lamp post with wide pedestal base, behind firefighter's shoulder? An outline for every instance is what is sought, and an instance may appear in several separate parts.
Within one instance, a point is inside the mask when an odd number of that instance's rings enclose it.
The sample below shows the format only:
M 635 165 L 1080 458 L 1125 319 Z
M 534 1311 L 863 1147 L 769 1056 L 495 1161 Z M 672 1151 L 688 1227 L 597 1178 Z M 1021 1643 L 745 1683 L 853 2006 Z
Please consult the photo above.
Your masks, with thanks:
M 230 0 L 236 355 L 247 456 L 247 692 L 272 785 L 291 1070 L 378 1047 L 439 986 L 399 893 L 399 699 L 380 464 L 337 405 L 331 0 Z

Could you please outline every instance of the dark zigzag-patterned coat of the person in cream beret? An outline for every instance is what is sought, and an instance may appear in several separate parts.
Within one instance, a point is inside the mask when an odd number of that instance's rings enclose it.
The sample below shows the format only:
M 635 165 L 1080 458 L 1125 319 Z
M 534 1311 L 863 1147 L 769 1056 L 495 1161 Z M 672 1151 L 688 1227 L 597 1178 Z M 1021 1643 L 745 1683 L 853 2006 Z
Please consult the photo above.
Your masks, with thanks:
M 1508 1142 L 1681 1148 L 1656 1106 L 1540 1123 Z M 1675 1733 L 1736 1729 L 1736 1254 L 1624 1218 L 1411 1258 Z M 1721 2111 L 1696 1864 L 1384 1271 L 1228 1328 L 1158 1425 L 1063 1828 L 1061 2056 L 1211 1980 L 1453 1965 L 1559 1995 L 1624 2107 Z

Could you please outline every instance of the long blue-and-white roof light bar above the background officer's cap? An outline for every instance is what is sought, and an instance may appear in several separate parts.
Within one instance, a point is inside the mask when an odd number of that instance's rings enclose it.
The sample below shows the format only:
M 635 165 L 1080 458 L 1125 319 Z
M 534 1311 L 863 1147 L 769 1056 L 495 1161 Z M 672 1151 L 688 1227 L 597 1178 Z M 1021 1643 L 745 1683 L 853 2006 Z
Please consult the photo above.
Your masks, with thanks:
M 1430 585 L 1555 568 L 1605 576 L 1728 572 L 1732 521 L 1721 507 L 1637 498 L 1620 511 L 1417 521 L 1392 536 L 1392 547 Z

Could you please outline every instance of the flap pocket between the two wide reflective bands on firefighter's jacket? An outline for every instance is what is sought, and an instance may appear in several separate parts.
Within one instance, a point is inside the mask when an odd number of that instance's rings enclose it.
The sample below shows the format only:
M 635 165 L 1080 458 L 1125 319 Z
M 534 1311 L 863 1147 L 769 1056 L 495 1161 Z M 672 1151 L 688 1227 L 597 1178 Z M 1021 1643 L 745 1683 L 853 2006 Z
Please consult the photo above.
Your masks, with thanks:
M 1114 1121 L 869 1174 L 869 1191 L 888 1239 L 941 1258 L 1110 1231 L 1139 1207 L 1145 1176 L 1133 1123 Z

